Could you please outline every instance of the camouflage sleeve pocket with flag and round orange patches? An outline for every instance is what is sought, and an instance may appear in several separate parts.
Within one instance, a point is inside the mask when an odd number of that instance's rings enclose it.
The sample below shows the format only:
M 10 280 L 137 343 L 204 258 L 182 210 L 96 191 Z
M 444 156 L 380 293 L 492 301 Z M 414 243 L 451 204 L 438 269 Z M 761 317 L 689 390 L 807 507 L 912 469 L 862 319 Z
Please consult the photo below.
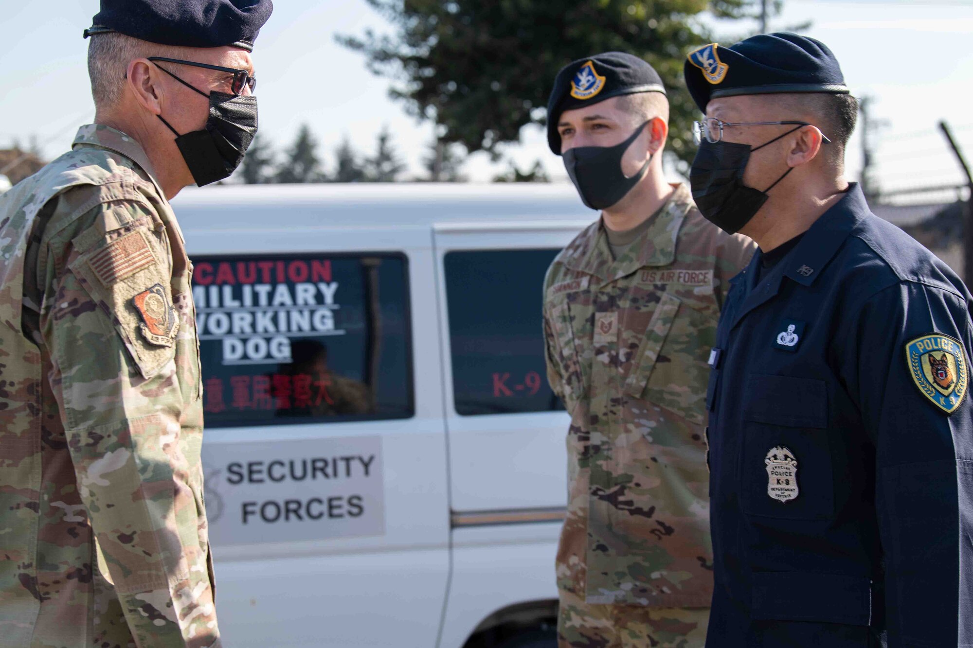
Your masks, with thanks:
M 147 227 L 111 232 L 68 268 L 125 342 L 142 378 L 175 356 L 179 318 L 158 237 Z

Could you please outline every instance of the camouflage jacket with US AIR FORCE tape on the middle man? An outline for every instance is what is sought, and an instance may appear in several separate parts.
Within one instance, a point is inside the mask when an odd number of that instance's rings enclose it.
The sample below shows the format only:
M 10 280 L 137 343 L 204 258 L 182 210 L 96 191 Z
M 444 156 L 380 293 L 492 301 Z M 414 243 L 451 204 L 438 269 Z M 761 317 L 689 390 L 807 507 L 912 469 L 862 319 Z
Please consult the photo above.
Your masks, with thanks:
M 706 361 L 729 279 L 753 250 L 680 185 L 617 260 L 598 222 L 548 270 L 548 378 L 571 414 L 559 589 L 709 606 Z

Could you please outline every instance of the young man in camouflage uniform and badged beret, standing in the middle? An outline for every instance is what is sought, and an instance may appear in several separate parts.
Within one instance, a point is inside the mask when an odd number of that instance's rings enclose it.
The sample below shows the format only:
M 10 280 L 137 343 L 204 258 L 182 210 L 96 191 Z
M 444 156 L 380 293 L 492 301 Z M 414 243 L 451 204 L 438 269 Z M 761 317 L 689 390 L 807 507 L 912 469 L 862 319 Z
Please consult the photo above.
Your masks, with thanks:
M 707 354 L 752 242 L 668 185 L 668 103 L 647 63 L 560 71 L 549 142 L 601 218 L 548 270 L 548 378 L 571 414 L 557 559 L 562 648 L 702 647 L 712 594 Z

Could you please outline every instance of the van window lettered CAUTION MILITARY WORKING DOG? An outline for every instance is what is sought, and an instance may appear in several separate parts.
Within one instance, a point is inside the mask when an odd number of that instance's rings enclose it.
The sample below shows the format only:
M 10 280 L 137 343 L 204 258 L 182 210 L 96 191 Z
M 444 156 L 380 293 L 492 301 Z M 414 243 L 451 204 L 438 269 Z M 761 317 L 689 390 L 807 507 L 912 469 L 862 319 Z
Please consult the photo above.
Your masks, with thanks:
M 207 427 L 413 414 L 405 256 L 194 262 Z

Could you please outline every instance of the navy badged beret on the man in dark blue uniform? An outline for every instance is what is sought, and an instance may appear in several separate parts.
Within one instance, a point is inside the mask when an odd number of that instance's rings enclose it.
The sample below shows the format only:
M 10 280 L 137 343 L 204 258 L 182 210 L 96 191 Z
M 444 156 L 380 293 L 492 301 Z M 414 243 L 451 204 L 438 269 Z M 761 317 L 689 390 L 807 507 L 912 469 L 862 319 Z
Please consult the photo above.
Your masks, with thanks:
M 686 86 L 700 110 L 710 99 L 776 92 L 847 93 L 835 54 L 807 36 L 761 34 L 724 48 L 704 45 L 686 56 Z

